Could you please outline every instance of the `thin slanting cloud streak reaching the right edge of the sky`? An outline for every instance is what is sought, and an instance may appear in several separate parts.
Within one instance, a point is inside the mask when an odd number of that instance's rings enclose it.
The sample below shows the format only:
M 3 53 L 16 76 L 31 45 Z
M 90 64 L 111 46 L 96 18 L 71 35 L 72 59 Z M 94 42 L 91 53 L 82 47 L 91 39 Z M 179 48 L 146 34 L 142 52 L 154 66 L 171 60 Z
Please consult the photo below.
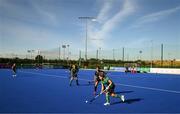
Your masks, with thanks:
M 136 24 L 132 26 L 132 28 L 138 28 L 138 27 L 143 26 L 144 24 L 156 22 L 162 18 L 167 17 L 168 15 L 171 15 L 171 14 L 177 12 L 178 10 L 180 10 L 180 6 L 178 6 L 176 8 L 163 10 L 163 11 L 159 11 L 156 13 L 145 15 L 145 16 L 139 18 L 137 20 Z

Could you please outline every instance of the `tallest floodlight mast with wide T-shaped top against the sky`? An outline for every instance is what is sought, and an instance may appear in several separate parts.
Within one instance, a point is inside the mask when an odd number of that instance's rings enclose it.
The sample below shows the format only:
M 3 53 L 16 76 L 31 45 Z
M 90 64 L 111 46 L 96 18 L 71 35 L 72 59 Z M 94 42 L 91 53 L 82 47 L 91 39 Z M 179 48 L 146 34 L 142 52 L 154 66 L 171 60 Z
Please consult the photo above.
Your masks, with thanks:
M 88 39 L 88 20 L 94 20 L 95 17 L 79 17 L 86 22 L 86 40 L 85 40 L 85 61 L 87 61 L 87 39 Z

